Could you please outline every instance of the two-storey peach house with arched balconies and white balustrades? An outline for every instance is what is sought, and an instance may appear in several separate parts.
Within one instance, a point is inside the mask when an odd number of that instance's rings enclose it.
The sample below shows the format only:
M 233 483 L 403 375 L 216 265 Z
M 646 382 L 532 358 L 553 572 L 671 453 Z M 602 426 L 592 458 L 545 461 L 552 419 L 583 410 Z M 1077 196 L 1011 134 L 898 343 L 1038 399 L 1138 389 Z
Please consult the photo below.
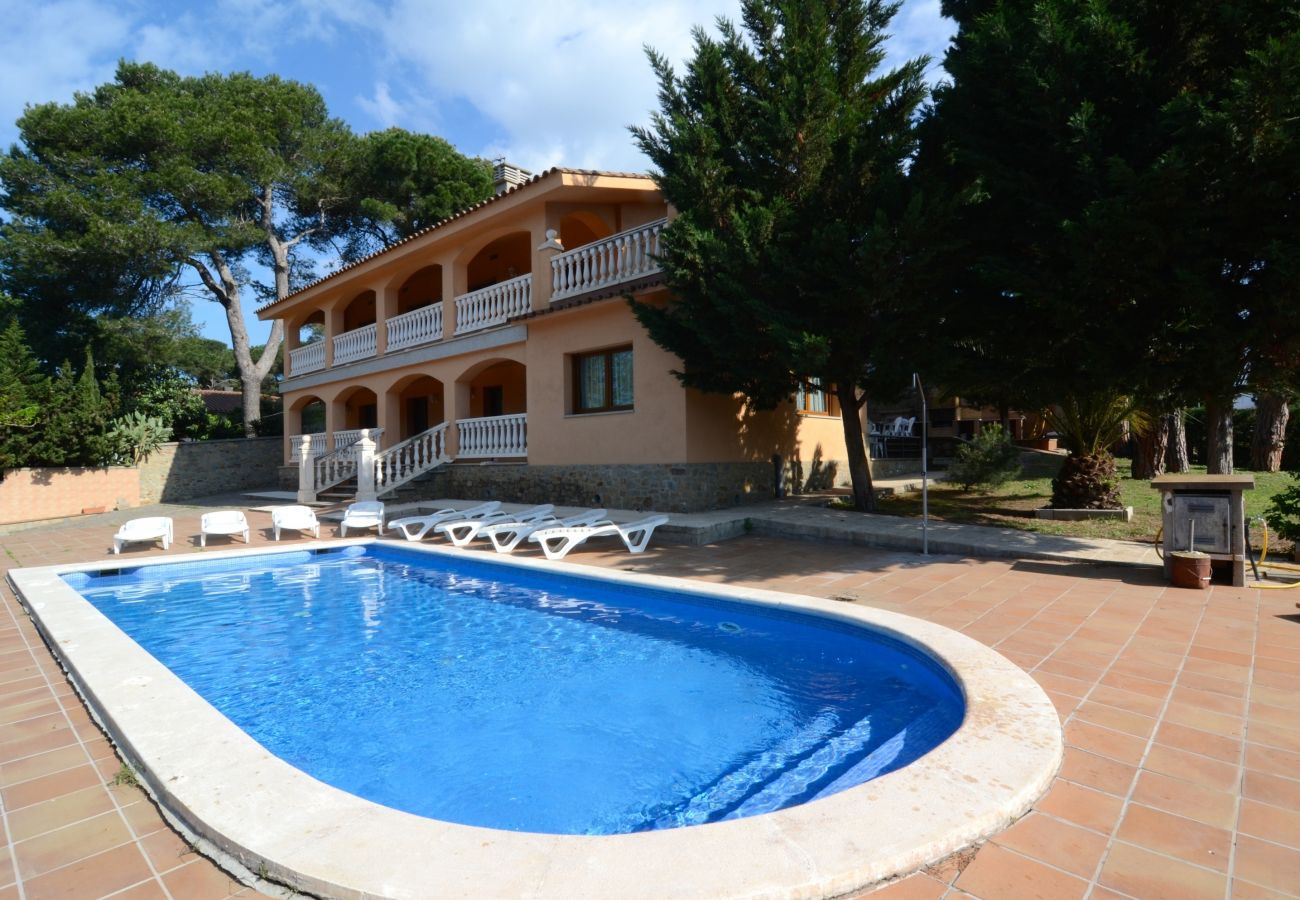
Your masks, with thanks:
M 325 423 L 313 489 L 347 476 L 338 451 L 363 428 L 381 490 L 436 468 L 447 496 L 702 510 L 771 498 L 774 454 L 848 481 L 824 398 L 754 412 L 688 390 L 636 321 L 625 294 L 667 300 L 650 178 L 498 177 L 497 196 L 257 311 L 286 325 L 286 463 L 304 417 Z

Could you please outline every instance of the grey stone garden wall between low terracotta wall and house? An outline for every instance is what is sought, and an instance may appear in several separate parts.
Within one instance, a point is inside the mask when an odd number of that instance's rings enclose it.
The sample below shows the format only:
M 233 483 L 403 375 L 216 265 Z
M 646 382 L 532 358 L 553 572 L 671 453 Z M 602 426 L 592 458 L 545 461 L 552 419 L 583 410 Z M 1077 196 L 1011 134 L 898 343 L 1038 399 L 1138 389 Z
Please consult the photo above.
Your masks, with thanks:
M 274 488 L 283 453 L 280 437 L 164 443 L 140 463 L 140 502 Z

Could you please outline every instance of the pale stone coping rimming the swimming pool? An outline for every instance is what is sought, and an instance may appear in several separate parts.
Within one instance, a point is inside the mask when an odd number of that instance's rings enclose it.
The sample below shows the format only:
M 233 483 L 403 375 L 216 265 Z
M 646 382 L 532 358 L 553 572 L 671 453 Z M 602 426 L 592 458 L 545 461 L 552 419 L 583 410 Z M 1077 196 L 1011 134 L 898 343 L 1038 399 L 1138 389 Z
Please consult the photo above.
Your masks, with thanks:
M 202 561 L 387 544 L 374 538 L 204 553 Z M 218 861 L 317 895 L 530 897 L 836 896 L 913 871 L 1023 815 L 1063 752 L 1056 709 L 1001 654 L 871 607 L 575 563 L 402 544 L 473 559 L 800 610 L 884 631 L 936 658 L 967 702 L 958 731 L 911 765 L 790 809 L 632 835 L 495 831 L 402 813 L 268 753 L 58 576 L 177 564 L 159 558 L 12 570 L 10 584 L 164 812 Z M 157 710 L 166 710 L 159 715 Z M 486 886 L 490 886 L 486 887 Z

